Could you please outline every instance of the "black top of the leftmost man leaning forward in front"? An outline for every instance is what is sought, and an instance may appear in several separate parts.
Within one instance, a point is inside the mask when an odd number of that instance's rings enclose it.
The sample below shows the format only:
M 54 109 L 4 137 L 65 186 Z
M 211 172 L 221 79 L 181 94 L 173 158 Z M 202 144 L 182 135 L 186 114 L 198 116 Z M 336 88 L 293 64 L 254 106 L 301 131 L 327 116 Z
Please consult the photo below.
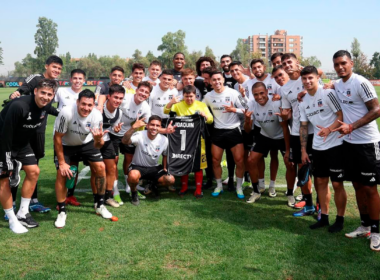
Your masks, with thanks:
M 34 95 L 12 100 L 0 113 L 0 162 L 8 163 L 10 153 L 30 142 L 40 127 L 45 129 L 51 103 L 39 108 Z

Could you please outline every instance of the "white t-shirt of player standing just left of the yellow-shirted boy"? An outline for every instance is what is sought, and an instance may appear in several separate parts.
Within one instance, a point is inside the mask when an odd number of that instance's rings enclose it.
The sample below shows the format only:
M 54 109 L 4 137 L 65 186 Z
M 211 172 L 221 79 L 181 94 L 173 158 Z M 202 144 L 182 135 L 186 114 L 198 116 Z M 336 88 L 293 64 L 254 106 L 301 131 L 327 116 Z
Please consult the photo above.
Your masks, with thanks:
M 163 91 L 160 88 L 160 85 L 153 87 L 152 93 L 149 97 L 149 105 L 152 115 L 157 115 L 161 118 L 169 118 L 169 115 L 164 114 L 164 107 L 174 96 L 177 95 L 178 90 L 175 88 Z

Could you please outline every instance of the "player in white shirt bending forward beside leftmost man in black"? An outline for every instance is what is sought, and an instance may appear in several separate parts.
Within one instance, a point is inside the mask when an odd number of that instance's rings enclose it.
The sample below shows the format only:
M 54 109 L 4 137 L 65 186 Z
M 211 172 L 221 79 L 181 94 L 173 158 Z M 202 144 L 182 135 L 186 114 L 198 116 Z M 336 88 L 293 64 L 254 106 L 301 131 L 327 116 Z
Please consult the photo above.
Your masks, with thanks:
M 54 149 L 57 154 L 57 179 L 55 191 L 58 202 L 58 216 L 55 227 L 66 225 L 66 180 L 72 177 L 70 162 L 80 157 L 90 164 L 91 176 L 95 177 L 96 213 L 105 219 L 111 219 L 112 214 L 104 205 L 106 191 L 106 171 L 100 149 L 104 145 L 102 114 L 95 107 L 95 94 L 89 89 L 79 93 L 74 106 L 65 107 L 55 121 Z

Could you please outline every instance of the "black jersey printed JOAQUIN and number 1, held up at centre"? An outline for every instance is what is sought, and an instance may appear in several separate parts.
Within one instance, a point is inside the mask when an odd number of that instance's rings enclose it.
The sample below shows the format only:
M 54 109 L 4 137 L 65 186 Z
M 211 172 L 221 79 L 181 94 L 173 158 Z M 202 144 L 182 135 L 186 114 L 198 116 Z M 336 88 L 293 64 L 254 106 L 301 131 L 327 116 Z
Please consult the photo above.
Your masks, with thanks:
M 168 172 L 175 176 L 187 175 L 200 170 L 201 134 L 204 130 L 204 119 L 199 114 L 169 118 L 177 126 L 168 134 Z

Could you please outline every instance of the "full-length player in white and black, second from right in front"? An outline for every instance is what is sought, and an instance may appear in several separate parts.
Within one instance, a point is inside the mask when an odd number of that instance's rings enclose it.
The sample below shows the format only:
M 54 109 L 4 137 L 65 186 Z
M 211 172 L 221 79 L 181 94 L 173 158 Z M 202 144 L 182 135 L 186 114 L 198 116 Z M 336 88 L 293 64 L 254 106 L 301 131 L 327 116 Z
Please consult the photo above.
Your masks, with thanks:
M 347 204 L 347 194 L 343 186 L 343 140 L 339 138 L 338 132 L 332 131 L 340 125 L 339 121 L 343 120 L 342 109 L 335 91 L 324 90 L 319 86 L 317 68 L 306 66 L 301 71 L 301 77 L 307 90 L 307 94 L 299 104 L 302 162 L 304 164 L 310 162 L 306 151 L 310 122 L 314 128 L 312 151 L 314 185 L 321 206 L 321 219 L 311 225 L 310 229 L 329 226 L 330 177 L 335 192 L 337 216 L 335 223 L 329 227 L 329 232 L 340 232 L 343 229 Z

